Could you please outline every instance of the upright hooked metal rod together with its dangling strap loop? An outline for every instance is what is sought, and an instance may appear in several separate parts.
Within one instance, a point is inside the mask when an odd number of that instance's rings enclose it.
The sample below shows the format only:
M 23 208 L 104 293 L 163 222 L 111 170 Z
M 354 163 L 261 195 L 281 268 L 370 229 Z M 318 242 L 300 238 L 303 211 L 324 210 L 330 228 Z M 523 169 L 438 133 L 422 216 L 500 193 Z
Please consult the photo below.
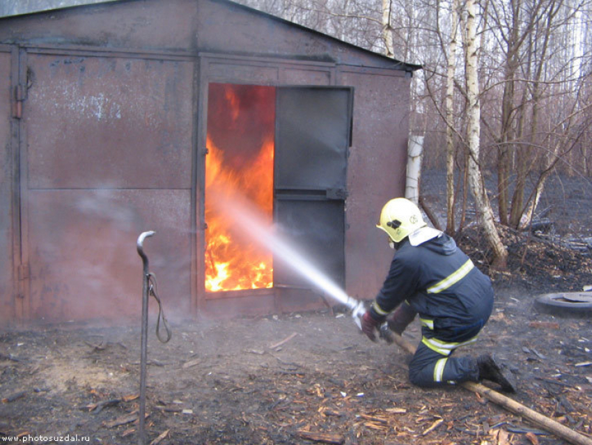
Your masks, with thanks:
M 148 352 L 148 297 L 152 295 L 158 303 L 158 318 L 156 323 L 156 336 L 162 343 L 166 343 L 171 339 L 171 329 L 169 323 L 166 321 L 164 312 L 162 311 L 162 304 L 157 293 L 157 283 L 155 274 L 148 269 L 148 256 L 144 253 L 143 244 L 147 237 L 155 235 L 155 231 L 143 232 L 138 237 L 136 247 L 139 256 L 142 258 L 143 274 L 142 274 L 142 328 L 141 328 L 141 345 L 140 345 L 140 407 L 139 407 L 139 445 L 146 444 L 146 356 Z M 162 325 L 166 330 L 166 337 L 160 334 L 160 320 L 162 318 Z

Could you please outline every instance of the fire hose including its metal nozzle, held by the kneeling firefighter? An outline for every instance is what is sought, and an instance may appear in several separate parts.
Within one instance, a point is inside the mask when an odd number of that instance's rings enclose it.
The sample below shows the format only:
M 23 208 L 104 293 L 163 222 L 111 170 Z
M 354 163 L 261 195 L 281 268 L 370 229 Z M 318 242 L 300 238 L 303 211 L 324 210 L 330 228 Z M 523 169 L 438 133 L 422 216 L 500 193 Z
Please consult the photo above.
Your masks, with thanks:
M 364 315 L 364 306 L 362 302 L 358 302 L 357 300 L 350 297 L 350 299 L 348 299 L 347 306 L 352 309 L 352 317 L 354 318 L 356 325 L 361 328 L 360 317 L 361 315 Z M 386 322 L 380 326 L 379 332 L 380 338 L 382 338 L 384 341 L 387 341 L 387 343 L 396 343 L 396 345 L 406 352 L 409 352 L 410 354 L 415 353 L 414 345 L 412 345 L 402 336 L 392 332 Z M 544 416 L 543 414 L 540 414 L 507 396 L 504 396 L 497 391 L 494 391 L 491 388 L 485 387 L 485 385 L 481 383 L 463 382 L 460 384 L 460 386 L 467 389 L 468 391 L 480 394 L 488 400 L 491 400 L 493 403 L 508 409 L 508 411 L 513 412 L 514 414 L 528 419 L 536 426 L 551 432 L 557 437 L 561 437 L 561 439 L 565 439 L 566 441 L 570 442 L 570 444 L 592 445 L 591 438 L 586 437 L 579 432 L 574 431 L 562 425 L 561 423 L 554 421 L 553 419 L 550 419 L 549 417 Z

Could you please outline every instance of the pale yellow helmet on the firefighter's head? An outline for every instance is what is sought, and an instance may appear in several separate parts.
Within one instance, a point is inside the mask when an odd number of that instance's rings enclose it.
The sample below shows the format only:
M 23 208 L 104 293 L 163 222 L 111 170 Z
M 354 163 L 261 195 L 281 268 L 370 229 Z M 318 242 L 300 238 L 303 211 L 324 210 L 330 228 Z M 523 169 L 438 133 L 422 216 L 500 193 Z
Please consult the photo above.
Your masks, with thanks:
M 419 208 L 405 198 L 394 198 L 384 204 L 377 228 L 387 232 L 391 240 L 400 242 L 418 228 L 427 226 Z

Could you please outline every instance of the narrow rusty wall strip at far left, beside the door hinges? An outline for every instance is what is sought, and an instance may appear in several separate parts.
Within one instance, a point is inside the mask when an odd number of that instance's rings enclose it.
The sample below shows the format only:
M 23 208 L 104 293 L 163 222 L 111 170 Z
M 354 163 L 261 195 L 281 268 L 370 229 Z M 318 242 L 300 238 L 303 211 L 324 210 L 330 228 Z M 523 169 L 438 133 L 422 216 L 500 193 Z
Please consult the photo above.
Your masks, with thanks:
M 0 324 L 15 317 L 13 289 L 13 159 L 11 150 L 11 54 L 0 46 Z

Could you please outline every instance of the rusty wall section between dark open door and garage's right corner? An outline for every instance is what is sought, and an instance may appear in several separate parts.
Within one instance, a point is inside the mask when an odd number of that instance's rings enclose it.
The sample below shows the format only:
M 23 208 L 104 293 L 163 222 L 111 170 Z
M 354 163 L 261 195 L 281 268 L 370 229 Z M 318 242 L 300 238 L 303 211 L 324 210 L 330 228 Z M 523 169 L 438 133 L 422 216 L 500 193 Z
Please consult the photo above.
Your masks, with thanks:
M 371 299 L 393 251 L 375 225 L 384 203 L 405 192 L 410 77 L 392 70 L 345 68 L 354 87 L 354 130 L 348 166 L 345 280 L 348 293 Z

